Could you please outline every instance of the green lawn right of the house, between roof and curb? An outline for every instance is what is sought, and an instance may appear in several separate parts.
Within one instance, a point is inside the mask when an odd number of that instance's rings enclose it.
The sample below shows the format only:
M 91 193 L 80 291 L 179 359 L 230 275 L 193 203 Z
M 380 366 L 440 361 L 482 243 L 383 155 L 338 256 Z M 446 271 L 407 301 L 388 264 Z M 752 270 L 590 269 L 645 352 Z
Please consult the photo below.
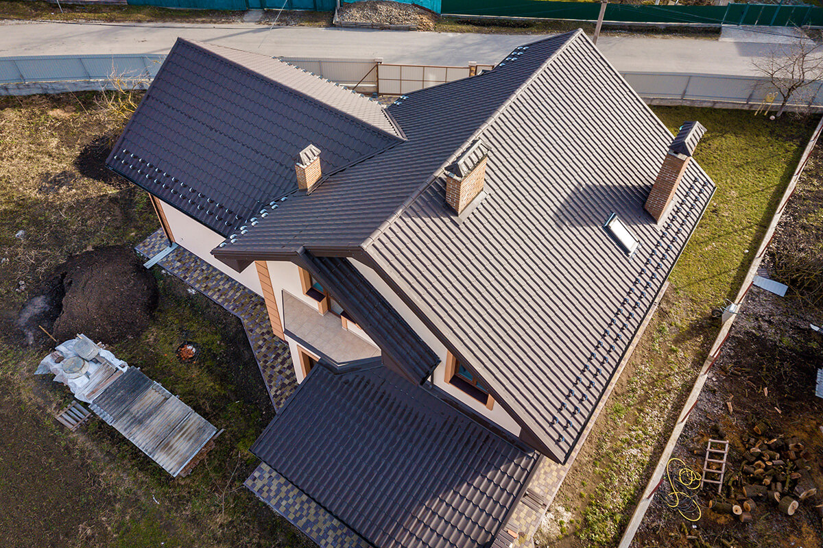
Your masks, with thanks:
M 672 285 L 695 302 L 732 298 L 751 265 L 816 120 L 770 121 L 741 110 L 656 107 L 672 130 L 699 120 L 706 134 L 695 151 L 718 190 L 672 273 Z

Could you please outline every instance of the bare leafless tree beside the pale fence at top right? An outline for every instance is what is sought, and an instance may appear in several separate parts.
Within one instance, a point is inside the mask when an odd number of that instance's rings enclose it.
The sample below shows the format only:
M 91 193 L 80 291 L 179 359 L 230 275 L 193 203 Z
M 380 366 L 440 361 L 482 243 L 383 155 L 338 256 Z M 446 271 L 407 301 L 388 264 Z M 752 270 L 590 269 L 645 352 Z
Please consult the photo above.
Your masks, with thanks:
M 823 54 L 811 39 L 797 39 L 790 44 L 775 44 L 764 58 L 752 61 L 769 79 L 781 97 L 777 116 L 783 114 L 789 99 L 816 82 L 823 81 Z

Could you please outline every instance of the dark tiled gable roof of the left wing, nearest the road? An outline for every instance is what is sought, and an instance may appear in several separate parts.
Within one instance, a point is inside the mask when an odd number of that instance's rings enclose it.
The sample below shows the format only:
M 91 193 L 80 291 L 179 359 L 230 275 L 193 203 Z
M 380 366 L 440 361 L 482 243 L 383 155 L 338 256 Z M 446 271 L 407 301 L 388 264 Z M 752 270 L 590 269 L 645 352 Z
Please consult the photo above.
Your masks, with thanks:
M 224 236 L 295 191 L 309 143 L 328 175 L 402 142 L 376 102 L 256 53 L 178 39 L 107 165 Z

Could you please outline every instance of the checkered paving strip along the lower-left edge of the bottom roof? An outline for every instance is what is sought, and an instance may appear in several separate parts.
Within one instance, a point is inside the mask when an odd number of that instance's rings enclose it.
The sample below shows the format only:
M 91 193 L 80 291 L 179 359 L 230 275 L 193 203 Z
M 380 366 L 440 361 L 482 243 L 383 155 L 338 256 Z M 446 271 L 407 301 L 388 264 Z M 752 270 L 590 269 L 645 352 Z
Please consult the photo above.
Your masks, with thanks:
M 266 463 L 261 463 L 244 485 L 321 548 L 371 548 L 356 532 Z

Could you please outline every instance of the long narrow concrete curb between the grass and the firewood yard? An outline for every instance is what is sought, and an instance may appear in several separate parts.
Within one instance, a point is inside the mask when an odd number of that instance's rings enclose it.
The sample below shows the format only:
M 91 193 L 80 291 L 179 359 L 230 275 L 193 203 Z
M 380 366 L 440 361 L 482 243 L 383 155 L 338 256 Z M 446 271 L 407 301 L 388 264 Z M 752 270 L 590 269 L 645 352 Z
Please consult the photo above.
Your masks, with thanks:
M 771 223 L 769 223 L 769 228 L 763 235 L 763 240 L 760 242 L 760 247 L 757 250 L 757 254 L 754 260 L 751 261 L 751 266 L 749 267 L 748 272 L 746 272 L 746 278 L 743 279 L 743 283 L 737 291 L 737 297 L 735 297 L 734 302 L 738 304 L 743 302 L 743 299 L 746 297 L 746 292 L 748 292 L 749 288 L 751 288 L 751 283 L 755 279 L 757 269 L 760 268 L 760 262 L 763 260 L 763 256 L 765 256 L 765 251 L 768 249 L 772 237 L 774 237 L 774 230 L 777 228 L 780 219 L 783 217 L 783 209 L 785 209 L 789 198 L 791 198 L 794 194 L 794 190 L 797 187 L 797 181 L 803 173 L 803 168 L 806 167 L 811 150 L 814 150 L 817 140 L 821 136 L 821 132 L 823 132 L 823 118 L 821 118 L 820 122 L 817 122 L 817 127 L 815 128 L 814 133 L 811 134 L 811 138 L 806 145 L 806 149 L 803 150 L 800 161 L 797 163 L 797 168 L 795 168 L 792 178 L 788 182 L 788 187 L 786 187 L 786 190 L 783 192 L 783 197 L 780 199 L 779 206 L 777 210 L 774 211 L 774 216 L 772 217 Z M 703 390 L 703 386 L 709 378 L 709 370 L 714 365 L 714 361 L 720 356 L 720 351 L 723 349 L 723 343 L 726 342 L 729 331 L 732 329 L 732 324 L 736 318 L 736 314 L 732 315 L 731 319 L 729 319 L 720 329 L 717 338 L 714 339 L 712 348 L 709 351 L 709 357 L 706 358 L 703 362 L 703 366 L 700 368 L 700 375 L 697 376 L 695 385 L 692 387 L 689 397 L 686 398 L 686 403 L 683 405 L 680 416 L 677 417 L 677 424 L 674 426 L 672 435 L 669 437 L 666 447 L 663 449 L 663 454 L 660 455 L 660 460 L 658 461 L 657 466 L 654 467 L 654 472 L 652 473 L 652 477 L 649 479 L 649 484 L 643 492 L 643 497 L 639 500 L 637 506 L 635 507 L 635 512 L 632 514 L 629 524 L 625 528 L 625 532 L 623 533 L 618 548 L 629 548 L 631 541 L 635 539 L 635 534 L 637 534 L 640 523 L 643 522 L 646 511 L 652 503 L 654 493 L 663 483 L 663 472 L 666 469 L 668 459 L 677 445 L 677 440 L 680 439 L 683 427 L 686 426 L 686 420 L 689 418 L 692 409 L 694 409 L 697 404 L 697 398 L 700 396 L 700 392 Z

